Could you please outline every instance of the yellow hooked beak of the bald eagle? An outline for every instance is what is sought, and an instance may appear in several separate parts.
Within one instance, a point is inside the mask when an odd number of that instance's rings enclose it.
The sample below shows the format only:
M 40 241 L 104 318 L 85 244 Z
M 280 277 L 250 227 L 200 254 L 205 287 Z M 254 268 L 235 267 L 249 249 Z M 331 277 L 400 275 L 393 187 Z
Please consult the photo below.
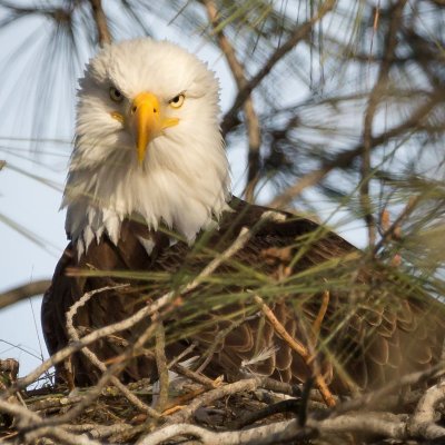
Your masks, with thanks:
M 134 99 L 130 108 L 130 121 L 136 136 L 138 161 L 146 158 L 151 140 L 162 135 L 162 130 L 179 123 L 178 118 L 162 118 L 159 100 L 152 92 L 141 92 Z

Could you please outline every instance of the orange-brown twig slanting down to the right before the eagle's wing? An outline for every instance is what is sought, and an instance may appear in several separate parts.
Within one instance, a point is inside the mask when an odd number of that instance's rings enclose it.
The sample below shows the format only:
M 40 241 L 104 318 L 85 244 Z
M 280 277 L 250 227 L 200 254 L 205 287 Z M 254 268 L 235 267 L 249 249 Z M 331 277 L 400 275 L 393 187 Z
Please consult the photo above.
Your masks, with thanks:
M 277 319 L 277 317 L 274 315 L 274 313 L 270 310 L 270 308 L 264 303 L 263 298 L 259 296 L 254 297 L 255 301 L 259 305 L 261 308 L 261 312 L 264 315 L 267 317 L 276 333 L 294 349 L 298 355 L 301 356 L 301 358 L 306 362 L 308 367 L 310 367 L 310 363 L 313 362 L 313 355 L 309 353 L 309 350 L 306 348 L 305 345 L 296 340 L 295 338 L 289 335 L 289 333 L 286 330 L 286 328 L 281 325 L 281 323 Z M 335 406 L 335 399 L 334 396 L 332 395 L 325 379 L 323 378 L 320 373 L 315 372 L 315 383 L 318 387 L 318 390 L 320 392 L 325 403 L 327 406 Z

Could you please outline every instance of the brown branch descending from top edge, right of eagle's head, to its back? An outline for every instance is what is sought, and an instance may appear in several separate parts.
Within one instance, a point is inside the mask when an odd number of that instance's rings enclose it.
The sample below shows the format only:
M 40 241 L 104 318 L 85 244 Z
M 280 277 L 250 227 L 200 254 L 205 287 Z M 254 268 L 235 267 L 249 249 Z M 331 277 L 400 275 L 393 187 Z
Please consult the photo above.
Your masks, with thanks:
M 236 52 L 234 50 L 234 47 L 225 36 L 222 29 L 218 28 L 218 10 L 216 8 L 215 2 L 212 0 L 204 0 L 202 2 L 207 9 L 207 16 L 210 20 L 210 23 L 214 27 L 214 30 L 216 31 L 219 48 L 221 49 L 221 51 L 226 57 L 227 63 L 237 83 L 238 91 L 240 91 L 241 88 L 245 88 L 247 85 L 244 67 L 239 62 Z M 247 162 L 248 170 L 247 170 L 247 185 L 245 189 L 245 198 L 248 202 L 254 202 L 255 187 L 258 184 L 259 179 L 259 167 L 260 167 L 259 148 L 261 146 L 261 130 L 250 92 L 247 95 L 243 108 L 247 123 L 247 136 L 249 140 L 249 151 L 248 151 L 248 162 Z

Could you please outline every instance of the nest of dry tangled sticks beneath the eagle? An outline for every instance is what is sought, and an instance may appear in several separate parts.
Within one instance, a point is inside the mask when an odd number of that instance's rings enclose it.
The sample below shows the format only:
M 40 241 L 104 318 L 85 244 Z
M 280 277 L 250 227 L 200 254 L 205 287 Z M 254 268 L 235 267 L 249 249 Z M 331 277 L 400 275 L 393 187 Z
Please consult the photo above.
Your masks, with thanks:
M 372 394 L 335 397 L 333 407 L 314 380 L 303 386 L 264 377 L 226 383 L 187 370 L 170 379 L 167 394 L 147 379 L 121 387 L 21 389 L 26 377 L 17 379 L 16 360 L 0 360 L 0 370 L 2 443 L 439 444 L 445 438 L 445 384 L 407 389 L 445 374 L 444 364 Z

